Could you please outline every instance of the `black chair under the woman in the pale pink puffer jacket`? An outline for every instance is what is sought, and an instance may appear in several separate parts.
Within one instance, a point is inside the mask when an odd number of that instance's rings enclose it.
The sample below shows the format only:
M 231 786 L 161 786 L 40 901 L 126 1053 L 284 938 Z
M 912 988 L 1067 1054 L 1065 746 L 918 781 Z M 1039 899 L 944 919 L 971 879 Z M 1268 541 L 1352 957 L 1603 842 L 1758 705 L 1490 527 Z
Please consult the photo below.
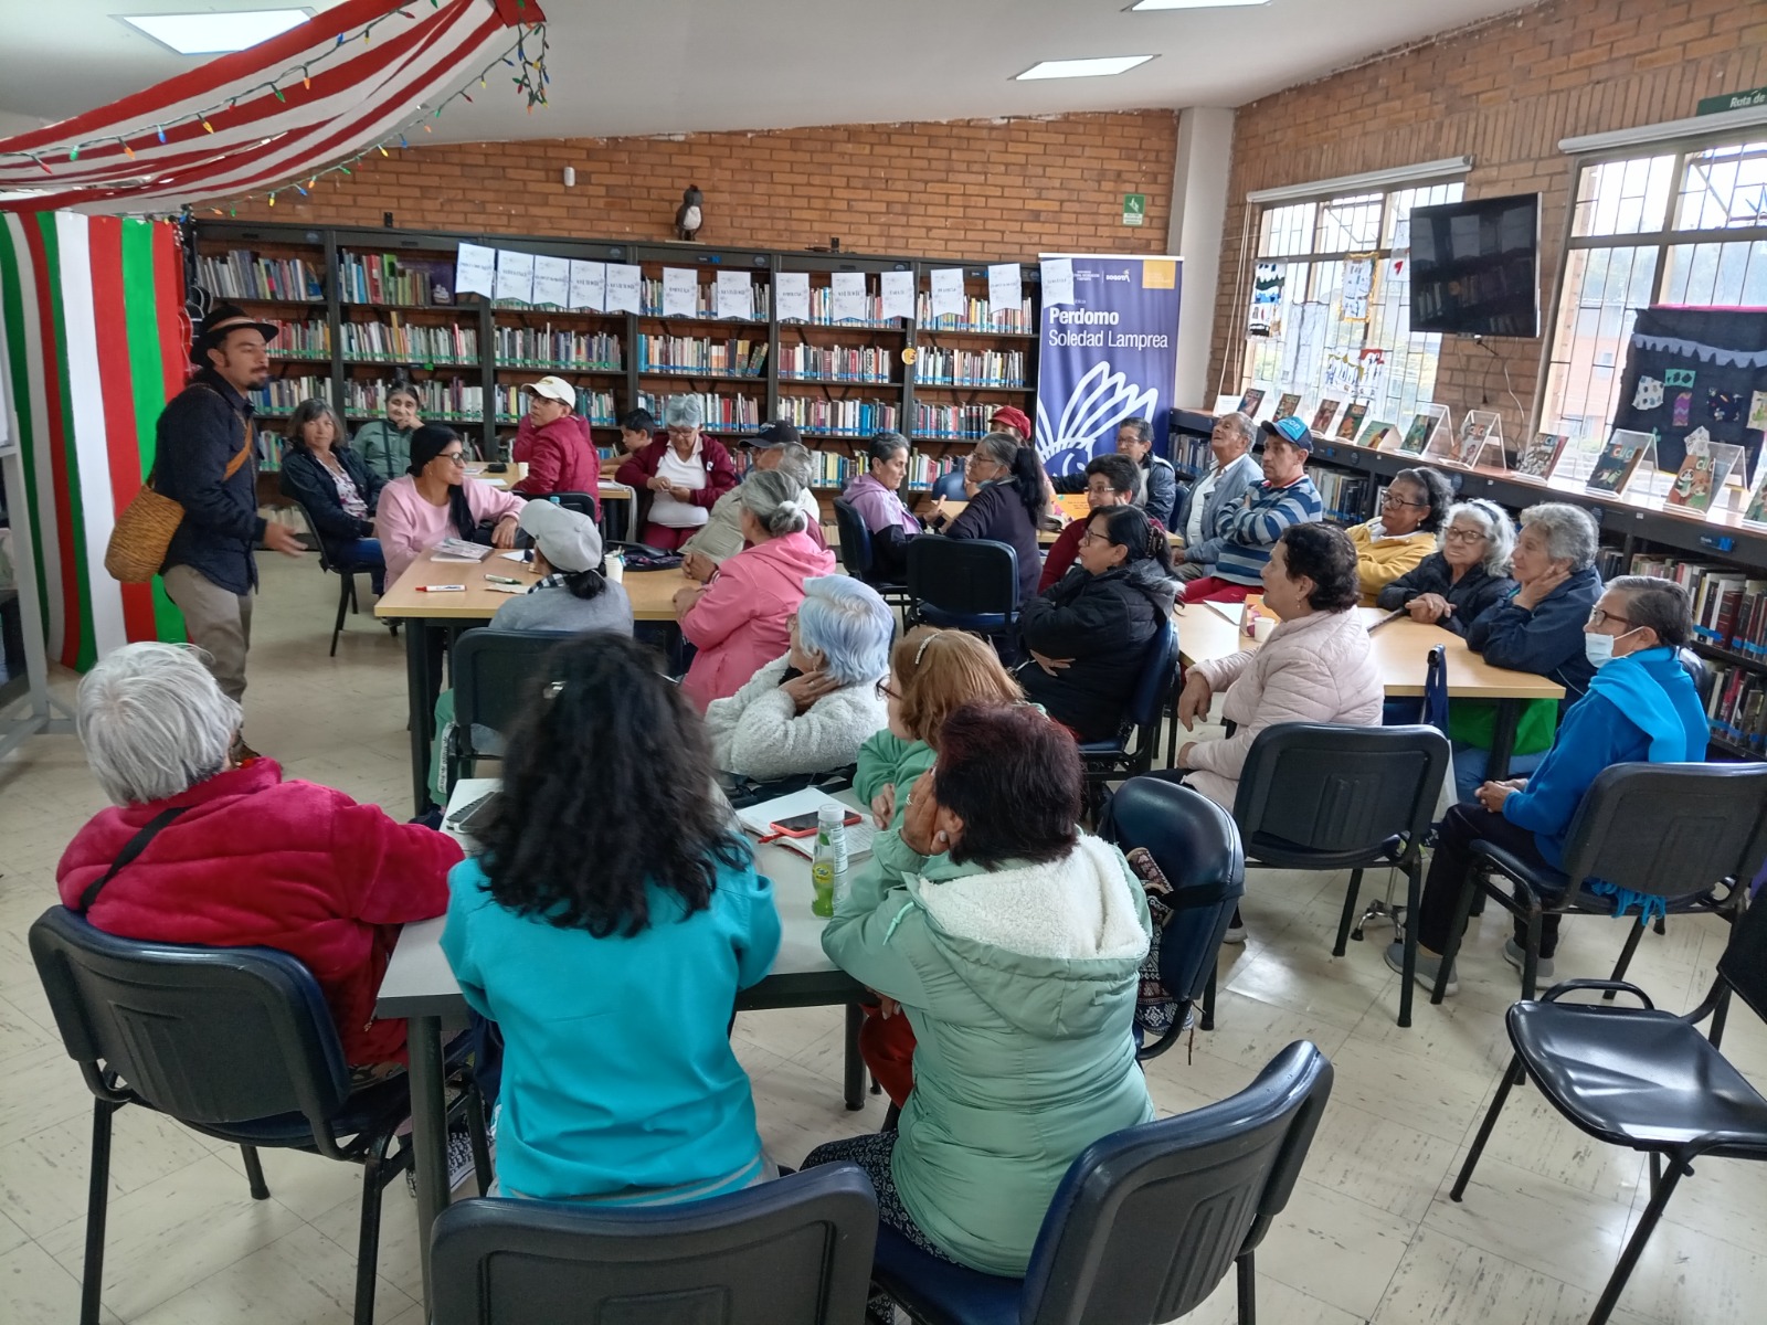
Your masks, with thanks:
M 1422 897 L 1422 844 L 1452 765 L 1433 726 L 1278 723 L 1256 735 L 1233 797 L 1246 862 L 1269 869 L 1348 869 L 1332 956 L 1341 958 L 1362 871 L 1405 871 L 1407 915 Z M 1399 1025 L 1412 1025 L 1417 926 L 1405 928 Z

